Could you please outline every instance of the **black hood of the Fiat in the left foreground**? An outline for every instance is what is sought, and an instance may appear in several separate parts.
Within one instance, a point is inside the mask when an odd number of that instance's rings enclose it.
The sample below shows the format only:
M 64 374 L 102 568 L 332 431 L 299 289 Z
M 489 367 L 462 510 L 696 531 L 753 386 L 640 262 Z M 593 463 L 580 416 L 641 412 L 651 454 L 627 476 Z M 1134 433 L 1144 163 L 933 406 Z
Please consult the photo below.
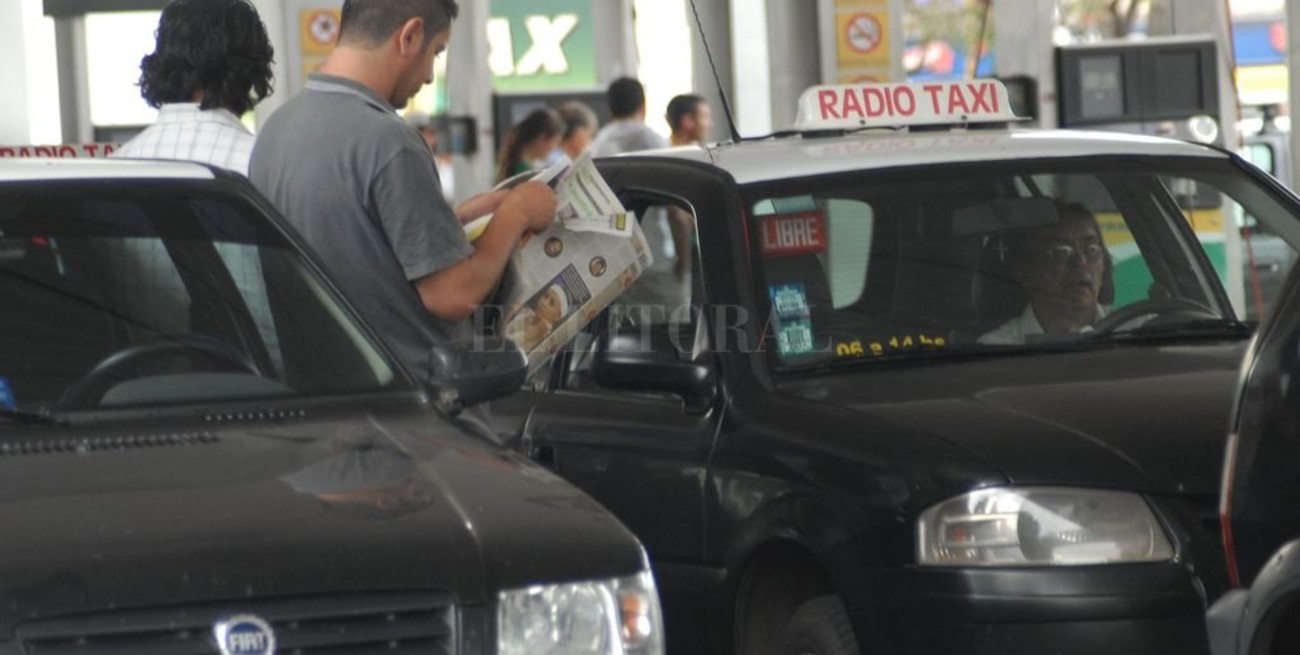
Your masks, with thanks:
M 255 597 L 473 604 L 642 568 L 586 495 L 428 411 L 143 425 L 0 426 L 5 634 L 18 617 Z

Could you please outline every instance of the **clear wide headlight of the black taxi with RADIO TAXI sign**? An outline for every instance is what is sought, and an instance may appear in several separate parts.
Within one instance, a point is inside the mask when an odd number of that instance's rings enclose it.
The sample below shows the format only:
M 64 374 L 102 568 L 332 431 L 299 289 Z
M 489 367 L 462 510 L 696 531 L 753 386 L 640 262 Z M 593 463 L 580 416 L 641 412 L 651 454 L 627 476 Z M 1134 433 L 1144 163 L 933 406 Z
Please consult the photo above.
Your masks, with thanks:
M 920 515 L 916 561 L 931 567 L 1041 567 L 1165 561 L 1174 547 L 1138 494 L 985 489 Z

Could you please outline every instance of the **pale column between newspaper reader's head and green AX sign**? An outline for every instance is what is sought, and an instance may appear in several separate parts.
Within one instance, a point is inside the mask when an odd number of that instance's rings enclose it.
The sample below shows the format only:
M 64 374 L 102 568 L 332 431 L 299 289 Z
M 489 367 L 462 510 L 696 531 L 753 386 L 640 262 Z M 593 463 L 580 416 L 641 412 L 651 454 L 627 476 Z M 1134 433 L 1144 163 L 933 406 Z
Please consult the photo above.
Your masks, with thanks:
M 478 118 L 478 153 L 456 156 L 456 203 L 491 188 L 493 139 L 491 69 L 488 66 L 489 0 L 460 0 L 460 17 L 451 29 L 447 52 L 447 96 L 454 116 Z

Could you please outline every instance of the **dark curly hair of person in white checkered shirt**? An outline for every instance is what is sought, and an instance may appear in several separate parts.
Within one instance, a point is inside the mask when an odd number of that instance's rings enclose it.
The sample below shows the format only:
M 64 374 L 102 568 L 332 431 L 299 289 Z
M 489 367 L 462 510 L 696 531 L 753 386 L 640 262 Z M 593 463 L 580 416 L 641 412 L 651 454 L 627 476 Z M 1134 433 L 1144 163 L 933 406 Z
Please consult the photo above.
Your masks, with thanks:
M 272 92 L 274 49 L 247 0 L 173 0 L 162 9 L 153 53 L 140 60 L 150 107 L 192 103 L 239 116 Z

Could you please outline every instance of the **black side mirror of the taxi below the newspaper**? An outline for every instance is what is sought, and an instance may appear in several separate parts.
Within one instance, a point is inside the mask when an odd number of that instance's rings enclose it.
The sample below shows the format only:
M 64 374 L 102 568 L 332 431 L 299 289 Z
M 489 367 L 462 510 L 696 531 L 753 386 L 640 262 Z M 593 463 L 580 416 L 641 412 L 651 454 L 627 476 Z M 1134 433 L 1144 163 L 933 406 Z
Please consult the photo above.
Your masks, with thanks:
M 672 340 L 671 326 L 611 329 L 597 339 L 592 378 L 624 391 L 664 391 L 681 396 L 690 413 L 714 404 L 716 374 L 708 363 L 692 361 Z

